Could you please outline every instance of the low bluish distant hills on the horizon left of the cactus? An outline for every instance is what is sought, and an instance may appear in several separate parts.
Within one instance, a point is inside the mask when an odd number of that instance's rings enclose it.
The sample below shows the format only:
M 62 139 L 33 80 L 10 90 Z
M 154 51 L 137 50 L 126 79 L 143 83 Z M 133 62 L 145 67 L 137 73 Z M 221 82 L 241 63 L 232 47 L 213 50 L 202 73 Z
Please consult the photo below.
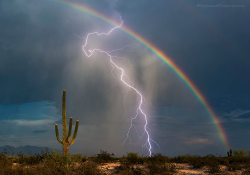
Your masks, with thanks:
M 46 151 L 46 147 L 37 147 L 37 146 L 30 146 L 30 145 L 26 145 L 26 146 L 19 146 L 17 148 L 10 146 L 10 145 L 5 145 L 3 147 L 0 147 L 0 152 L 2 152 L 4 149 L 6 149 L 7 151 L 9 151 L 9 148 L 14 151 L 14 155 L 16 155 L 16 153 L 22 151 L 22 153 L 24 155 L 28 155 L 28 153 L 30 152 L 31 154 L 40 154 L 41 151 L 43 150 L 44 152 Z M 62 152 L 61 150 L 57 150 L 57 149 L 51 149 L 48 148 L 48 151 L 51 152 L 52 150 L 55 150 L 56 152 Z

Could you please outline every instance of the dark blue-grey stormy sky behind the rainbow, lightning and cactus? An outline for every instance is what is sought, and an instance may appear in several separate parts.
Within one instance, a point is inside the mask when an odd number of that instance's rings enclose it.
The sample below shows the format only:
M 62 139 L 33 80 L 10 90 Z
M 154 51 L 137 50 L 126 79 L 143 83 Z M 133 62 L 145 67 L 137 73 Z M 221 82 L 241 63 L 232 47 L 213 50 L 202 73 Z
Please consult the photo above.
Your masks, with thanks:
M 71 0 L 140 34 L 167 54 L 204 94 L 233 149 L 250 144 L 250 2 L 222 0 Z M 232 6 L 233 5 L 233 6 Z M 89 32 L 108 32 L 108 23 L 51 0 L 0 1 L 0 146 L 62 149 L 62 91 L 67 119 L 80 126 L 71 153 L 148 155 L 134 128 L 126 139 L 138 96 L 120 81 L 107 55 L 88 58 Z M 92 36 L 89 49 L 113 52 L 145 97 L 143 110 L 153 153 L 226 155 L 211 118 L 194 94 L 159 58 L 121 30 Z M 69 123 L 69 122 L 68 122 Z M 145 121 L 135 121 L 139 135 Z M 122 145 L 123 144 L 123 145 Z

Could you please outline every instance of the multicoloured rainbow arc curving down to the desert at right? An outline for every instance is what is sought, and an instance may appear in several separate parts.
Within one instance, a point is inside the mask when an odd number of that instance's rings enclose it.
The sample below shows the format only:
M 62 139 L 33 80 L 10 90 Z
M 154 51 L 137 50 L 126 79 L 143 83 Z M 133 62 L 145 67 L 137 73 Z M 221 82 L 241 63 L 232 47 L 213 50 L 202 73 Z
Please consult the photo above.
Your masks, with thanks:
M 87 6 L 77 4 L 74 2 L 64 1 L 64 0 L 50 0 L 50 1 L 58 2 L 61 4 L 67 5 L 69 7 L 72 7 L 74 9 L 80 10 L 86 14 L 89 14 L 89 15 L 91 15 L 95 18 L 98 18 L 106 23 L 111 24 L 111 25 L 114 25 L 114 26 L 119 25 L 119 23 L 113 21 L 112 19 L 109 19 L 108 17 L 104 16 L 103 14 L 101 14 L 101 13 L 99 13 L 99 12 L 97 12 L 97 11 L 87 7 Z M 128 34 L 129 36 L 131 36 L 132 38 L 137 40 L 139 43 L 144 45 L 153 54 L 155 54 L 164 63 L 166 63 L 175 74 L 178 75 L 178 77 L 187 85 L 187 87 L 191 90 L 191 92 L 195 95 L 195 97 L 200 101 L 200 103 L 202 104 L 202 106 L 204 107 L 204 109 L 206 110 L 208 115 L 210 116 L 212 122 L 214 123 L 222 143 L 224 144 L 226 150 L 228 150 L 230 148 L 229 141 L 227 139 L 227 135 L 226 135 L 224 129 L 221 126 L 221 123 L 219 121 L 218 116 L 215 114 L 215 112 L 213 111 L 212 107 L 210 106 L 210 104 L 208 103 L 208 101 L 206 100 L 204 95 L 195 86 L 195 84 L 188 78 L 188 76 L 185 75 L 184 72 L 168 56 L 166 56 L 166 54 L 164 54 L 161 50 L 156 48 L 149 41 L 147 41 L 146 39 L 141 37 L 139 34 L 135 33 L 134 31 L 132 31 L 131 29 L 129 29 L 125 26 L 122 26 L 120 28 L 120 30 L 122 30 L 123 32 L 125 32 L 126 34 Z

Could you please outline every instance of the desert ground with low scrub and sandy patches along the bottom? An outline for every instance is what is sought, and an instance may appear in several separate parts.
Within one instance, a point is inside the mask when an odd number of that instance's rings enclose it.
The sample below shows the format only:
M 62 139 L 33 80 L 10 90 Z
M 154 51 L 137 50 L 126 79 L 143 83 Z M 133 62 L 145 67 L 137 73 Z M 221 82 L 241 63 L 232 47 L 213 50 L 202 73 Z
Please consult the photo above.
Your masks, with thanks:
M 236 150 L 237 151 L 237 150 Z M 239 152 L 239 151 L 238 151 Z M 0 174 L 4 175 L 151 175 L 151 174 L 250 174 L 249 154 L 231 156 L 181 155 L 167 157 L 154 154 L 151 157 L 129 152 L 122 157 L 100 150 L 100 153 L 86 157 L 81 154 L 64 156 L 48 150 L 39 154 L 24 155 L 4 150 L 0 153 Z

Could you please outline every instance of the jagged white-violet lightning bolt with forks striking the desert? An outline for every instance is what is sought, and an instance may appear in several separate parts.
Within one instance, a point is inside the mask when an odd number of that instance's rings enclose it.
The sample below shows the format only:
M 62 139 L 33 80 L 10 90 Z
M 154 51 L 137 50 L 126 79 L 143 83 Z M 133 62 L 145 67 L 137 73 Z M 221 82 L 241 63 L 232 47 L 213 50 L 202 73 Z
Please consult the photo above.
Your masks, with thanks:
M 121 19 L 121 17 L 120 17 L 120 19 Z M 138 115 L 141 114 L 143 116 L 144 120 L 145 120 L 145 125 L 144 125 L 144 132 L 143 132 L 142 136 L 140 137 L 140 139 L 144 136 L 144 134 L 146 134 L 147 139 L 146 139 L 146 142 L 143 145 L 143 147 L 145 146 L 145 147 L 148 148 L 149 156 L 151 157 L 151 155 L 152 155 L 152 142 L 154 142 L 157 146 L 159 146 L 159 145 L 154 140 L 152 140 L 150 138 L 150 134 L 149 134 L 148 127 L 147 127 L 147 125 L 148 125 L 148 116 L 147 116 L 147 114 L 142 109 L 142 105 L 143 105 L 143 101 L 144 101 L 143 95 L 141 94 L 141 92 L 138 89 L 136 89 L 134 87 L 134 83 L 132 81 L 130 81 L 129 77 L 125 73 L 125 70 L 122 67 L 119 67 L 113 61 L 112 58 L 114 58 L 116 56 L 110 55 L 110 53 L 112 53 L 112 51 L 104 51 L 104 50 L 100 50 L 98 48 L 94 48 L 94 49 L 91 49 L 91 50 L 86 50 L 86 46 L 88 45 L 88 40 L 89 40 L 89 38 L 90 38 L 91 35 L 98 35 L 98 36 L 100 36 L 100 35 L 110 35 L 114 30 L 120 28 L 122 26 L 122 24 L 123 24 L 123 21 L 121 19 L 121 24 L 118 25 L 118 26 L 115 26 L 114 28 L 112 28 L 107 33 L 98 33 L 98 32 L 89 33 L 87 35 L 86 39 L 85 39 L 84 45 L 82 46 L 82 50 L 84 51 L 84 53 L 85 53 L 85 55 L 87 57 L 91 57 L 94 54 L 94 52 L 101 52 L 103 54 L 106 54 L 109 57 L 109 61 L 110 61 L 110 64 L 112 66 L 112 70 L 114 68 L 116 68 L 117 70 L 119 70 L 121 72 L 121 74 L 120 74 L 120 81 L 124 84 L 124 86 L 127 86 L 129 89 L 132 89 L 138 95 L 140 102 L 139 102 L 138 107 L 137 107 L 136 116 L 130 118 L 130 127 L 128 129 L 127 137 L 124 140 L 123 144 L 128 139 L 131 141 L 130 130 L 131 130 L 131 128 L 135 127 L 134 124 L 133 124 L 133 120 L 135 120 L 138 117 Z M 118 49 L 118 50 L 120 50 L 120 49 Z M 116 51 L 116 50 L 113 50 L 113 51 Z M 124 79 L 125 77 L 128 79 L 127 81 Z

